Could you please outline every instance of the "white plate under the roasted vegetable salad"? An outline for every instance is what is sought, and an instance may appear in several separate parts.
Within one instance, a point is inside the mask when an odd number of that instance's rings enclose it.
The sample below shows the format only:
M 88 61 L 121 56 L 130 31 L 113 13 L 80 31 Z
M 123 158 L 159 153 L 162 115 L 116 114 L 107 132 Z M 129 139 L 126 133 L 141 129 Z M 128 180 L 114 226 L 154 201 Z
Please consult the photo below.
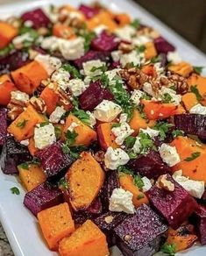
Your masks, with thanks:
M 18 3 L 15 4 L 1 4 L 0 18 L 18 15 L 22 11 L 46 4 L 69 3 L 75 6 L 81 2 L 82 1 L 79 0 L 25 0 L 18 1 Z M 89 3 L 91 1 L 83 2 Z M 203 53 L 197 50 L 195 46 L 190 45 L 186 40 L 182 39 L 166 25 L 163 25 L 157 18 L 154 18 L 139 5 L 134 4 L 130 0 L 110 0 L 110 3 L 108 3 L 109 1 L 107 0 L 103 0 L 100 2 L 113 11 L 126 11 L 133 18 L 140 18 L 144 24 L 152 25 L 159 30 L 165 38 L 177 46 L 183 60 L 191 62 L 194 66 L 205 66 L 206 56 Z M 204 70 L 204 75 L 206 75 L 206 70 Z M 12 187 L 18 187 L 20 189 L 20 196 L 11 194 L 10 188 Z M 4 175 L 0 171 L 0 219 L 4 225 L 4 230 L 9 238 L 15 256 L 57 255 L 57 253 L 47 249 L 44 238 L 40 235 L 36 218 L 23 206 L 24 195 L 25 191 L 21 188 L 16 177 Z M 119 256 L 120 253 L 115 250 L 112 255 Z M 206 255 L 206 247 L 194 246 L 187 250 L 187 252 L 178 253 L 178 255 L 203 256 Z

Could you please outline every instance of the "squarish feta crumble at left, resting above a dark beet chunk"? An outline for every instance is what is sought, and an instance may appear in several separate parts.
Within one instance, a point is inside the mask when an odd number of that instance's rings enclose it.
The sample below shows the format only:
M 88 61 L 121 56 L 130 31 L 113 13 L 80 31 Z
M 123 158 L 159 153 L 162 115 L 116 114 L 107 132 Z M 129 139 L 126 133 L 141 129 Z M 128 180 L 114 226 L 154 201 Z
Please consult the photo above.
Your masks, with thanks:
M 52 145 L 56 141 L 53 124 L 46 124 L 42 127 L 35 127 L 34 129 L 35 147 L 43 149 L 46 146 Z

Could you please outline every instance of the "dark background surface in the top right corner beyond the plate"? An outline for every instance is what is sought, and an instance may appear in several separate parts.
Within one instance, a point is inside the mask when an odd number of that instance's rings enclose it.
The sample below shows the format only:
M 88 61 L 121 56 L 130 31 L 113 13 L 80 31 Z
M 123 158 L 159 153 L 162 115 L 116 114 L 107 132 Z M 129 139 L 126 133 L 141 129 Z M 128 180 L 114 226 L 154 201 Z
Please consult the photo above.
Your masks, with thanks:
M 206 0 L 136 0 L 206 53 Z

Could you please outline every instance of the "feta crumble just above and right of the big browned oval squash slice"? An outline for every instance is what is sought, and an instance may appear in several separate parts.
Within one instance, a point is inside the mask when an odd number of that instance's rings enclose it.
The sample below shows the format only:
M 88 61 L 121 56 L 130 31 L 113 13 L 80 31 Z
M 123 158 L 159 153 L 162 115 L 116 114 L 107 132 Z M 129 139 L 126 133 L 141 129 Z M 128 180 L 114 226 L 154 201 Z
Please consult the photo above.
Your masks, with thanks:
M 104 154 L 104 164 L 110 170 L 116 170 L 117 167 L 124 166 L 129 160 L 129 155 L 121 148 L 113 149 L 109 146 Z

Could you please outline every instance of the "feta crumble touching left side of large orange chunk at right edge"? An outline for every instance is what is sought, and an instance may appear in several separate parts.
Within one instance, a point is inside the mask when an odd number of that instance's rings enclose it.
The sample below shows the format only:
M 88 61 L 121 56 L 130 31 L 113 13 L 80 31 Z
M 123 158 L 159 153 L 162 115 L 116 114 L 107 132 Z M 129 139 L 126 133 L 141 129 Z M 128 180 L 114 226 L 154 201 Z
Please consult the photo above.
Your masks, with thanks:
M 181 161 L 175 146 L 169 146 L 166 143 L 163 143 L 159 147 L 159 153 L 161 159 L 165 163 L 167 163 L 169 167 L 174 167 L 177 163 Z

